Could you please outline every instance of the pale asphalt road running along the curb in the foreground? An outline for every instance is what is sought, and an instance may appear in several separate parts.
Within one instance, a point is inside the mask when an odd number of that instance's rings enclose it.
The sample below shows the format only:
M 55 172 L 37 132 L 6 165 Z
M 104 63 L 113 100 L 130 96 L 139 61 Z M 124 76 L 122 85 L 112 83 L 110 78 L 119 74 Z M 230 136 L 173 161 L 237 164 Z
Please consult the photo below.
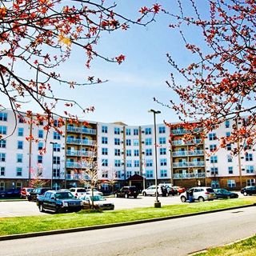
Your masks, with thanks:
M 0 242 L 0 256 L 187 255 L 255 234 L 256 207 Z

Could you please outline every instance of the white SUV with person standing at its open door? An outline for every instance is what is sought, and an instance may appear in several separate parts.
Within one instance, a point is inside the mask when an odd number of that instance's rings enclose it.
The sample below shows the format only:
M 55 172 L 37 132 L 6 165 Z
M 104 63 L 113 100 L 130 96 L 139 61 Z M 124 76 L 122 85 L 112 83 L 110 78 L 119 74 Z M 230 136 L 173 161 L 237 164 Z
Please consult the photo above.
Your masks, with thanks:
M 203 202 L 205 200 L 210 201 L 216 199 L 214 190 L 208 186 L 197 186 L 186 190 L 186 192 L 180 195 L 181 201 L 186 202 L 189 200 L 189 194 L 193 194 L 192 201 L 198 200 L 199 202 Z

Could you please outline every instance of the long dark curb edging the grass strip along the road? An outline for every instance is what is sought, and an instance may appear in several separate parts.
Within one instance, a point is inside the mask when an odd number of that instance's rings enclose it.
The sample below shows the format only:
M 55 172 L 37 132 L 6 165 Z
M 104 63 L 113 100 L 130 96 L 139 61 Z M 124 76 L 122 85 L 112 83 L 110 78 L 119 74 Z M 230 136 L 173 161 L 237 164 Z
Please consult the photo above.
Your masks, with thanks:
M 89 231 L 89 230 L 102 230 L 106 228 L 111 227 L 118 227 L 118 226 L 130 226 L 130 225 L 136 225 L 136 224 L 142 224 L 146 222 L 159 222 L 159 221 L 165 221 L 168 219 L 174 219 L 174 218 L 186 218 L 190 216 L 197 216 L 202 214 L 212 214 L 220 211 L 225 210 L 236 210 L 246 207 L 256 206 L 256 203 L 246 206 L 235 206 L 225 209 L 218 209 L 218 210 L 207 210 L 204 212 L 194 213 L 194 214 L 182 214 L 182 215 L 174 215 L 174 216 L 166 216 L 161 218 L 149 218 L 149 219 L 142 219 L 134 222 L 120 222 L 120 223 L 114 223 L 114 224 L 104 224 L 104 225 L 97 225 L 97 226 L 85 226 L 85 227 L 77 227 L 77 228 L 71 228 L 66 230 L 50 230 L 50 231 L 42 231 L 42 232 L 34 232 L 34 233 L 27 233 L 27 234 L 10 234 L 6 236 L 0 236 L 0 241 L 5 240 L 13 240 L 13 239 L 20 239 L 20 238 L 34 238 L 34 237 L 40 237 L 44 235 L 51 235 L 51 234 L 66 234 L 66 233 L 73 233 L 73 232 L 81 232 L 81 231 Z

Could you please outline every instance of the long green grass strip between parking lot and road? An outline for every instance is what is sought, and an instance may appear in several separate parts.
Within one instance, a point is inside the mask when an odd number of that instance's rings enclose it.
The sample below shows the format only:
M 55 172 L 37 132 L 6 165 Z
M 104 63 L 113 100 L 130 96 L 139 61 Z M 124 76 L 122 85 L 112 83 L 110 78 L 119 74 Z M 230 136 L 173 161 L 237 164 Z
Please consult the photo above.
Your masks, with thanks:
M 180 214 L 199 213 L 234 206 L 246 206 L 255 203 L 254 197 L 211 202 L 194 202 L 179 205 L 162 206 L 162 208 L 134 208 L 92 212 L 82 210 L 70 214 L 43 214 L 30 217 L 0 218 L 0 235 L 26 234 L 47 230 L 62 230 L 84 226 L 95 226 L 136 220 L 161 218 Z

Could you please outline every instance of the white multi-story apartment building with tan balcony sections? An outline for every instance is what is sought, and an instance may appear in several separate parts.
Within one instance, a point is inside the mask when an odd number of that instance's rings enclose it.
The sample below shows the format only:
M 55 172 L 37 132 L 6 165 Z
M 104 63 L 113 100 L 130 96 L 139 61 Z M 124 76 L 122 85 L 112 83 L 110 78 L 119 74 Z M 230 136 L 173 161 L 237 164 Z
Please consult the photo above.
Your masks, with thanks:
M 97 162 L 102 190 L 131 181 L 140 188 L 150 186 L 156 164 L 159 183 L 234 190 L 255 184 L 254 149 L 235 156 L 234 145 L 218 149 L 218 138 L 229 136 L 234 121 L 223 123 L 204 139 L 198 130 L 190 134 L 179 124 L 175 128 L 158 124 L 155 144 L 154 125 L 66 121 L 58 134 L 44 130 L 43 122 L 35 124 L 33 118 L 0 112 L 0 190 L 28 186 L 39 176 L 54 189 L 84 186 L 88 159 Z M 45 146 L 46 154 L 40 154 Z

